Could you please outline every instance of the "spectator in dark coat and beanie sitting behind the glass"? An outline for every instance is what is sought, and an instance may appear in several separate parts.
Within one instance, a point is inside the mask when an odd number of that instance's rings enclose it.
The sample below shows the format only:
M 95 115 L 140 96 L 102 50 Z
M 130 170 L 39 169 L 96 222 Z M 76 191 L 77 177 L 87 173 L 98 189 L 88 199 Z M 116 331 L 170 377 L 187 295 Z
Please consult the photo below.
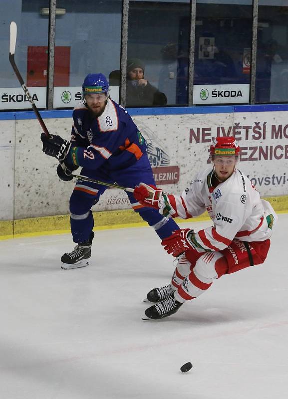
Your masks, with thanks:
M 149 107 L 167 104 L 167 97 L 144 79 L 145 66 L 138 58 L 127 61 L 127 107 Z

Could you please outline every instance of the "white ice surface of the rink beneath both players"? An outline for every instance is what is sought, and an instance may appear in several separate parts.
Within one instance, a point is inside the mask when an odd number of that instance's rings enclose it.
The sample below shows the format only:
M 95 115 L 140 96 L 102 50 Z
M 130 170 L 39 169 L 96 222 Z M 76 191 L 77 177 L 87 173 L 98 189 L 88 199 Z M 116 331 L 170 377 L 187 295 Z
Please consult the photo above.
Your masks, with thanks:
M 150 227 L 96 231 L 74 270 L 60 269 L 68 234 L 0 241 L 0 398 L 287 398 L 287 226 L 264 265 L 160 321 L 141 320 L 142 300 L 173 264 Z

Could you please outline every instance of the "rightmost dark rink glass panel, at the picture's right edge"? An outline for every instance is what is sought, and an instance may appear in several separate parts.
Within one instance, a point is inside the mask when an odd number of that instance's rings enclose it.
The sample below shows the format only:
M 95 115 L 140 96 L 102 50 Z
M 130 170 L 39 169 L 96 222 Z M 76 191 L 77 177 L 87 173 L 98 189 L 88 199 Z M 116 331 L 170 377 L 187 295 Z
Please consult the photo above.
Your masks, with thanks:
M 259 0 L 256 102 L 288 101 L 288 1 Z

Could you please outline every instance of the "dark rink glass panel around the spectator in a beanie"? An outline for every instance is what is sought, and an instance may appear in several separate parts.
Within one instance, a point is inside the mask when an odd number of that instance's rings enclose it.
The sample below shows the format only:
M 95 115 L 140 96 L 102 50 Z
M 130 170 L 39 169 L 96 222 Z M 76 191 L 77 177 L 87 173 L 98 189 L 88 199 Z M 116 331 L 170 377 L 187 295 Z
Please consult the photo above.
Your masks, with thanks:
M 188 104 L 189 35 L 190 1 L 129 1 L 127 59 L 143 62 L 167 105 Z

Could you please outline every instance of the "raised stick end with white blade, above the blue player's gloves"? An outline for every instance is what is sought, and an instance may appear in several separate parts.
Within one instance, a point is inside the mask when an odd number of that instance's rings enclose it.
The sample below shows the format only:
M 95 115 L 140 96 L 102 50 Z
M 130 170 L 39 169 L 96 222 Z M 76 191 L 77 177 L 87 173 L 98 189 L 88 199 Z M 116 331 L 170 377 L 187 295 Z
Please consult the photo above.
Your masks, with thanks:
M 38 119 L 38 121 L 39 121 L 39 123 L 40 123 L 40 125 L 41 125 L 41 127 L 42 127 L 42 129 L 43 129 L 43 131 L 45 133 L 45 135 L 47 137 L 50 137 L 48 129 L 46 128 L 46 125 L 45 125 L 45 123 L 44 123 L 44 121 L 43 121 L 43 119 L 42 119 L 42 117 L 41 117 L 41 115 L 40 115 L 40 113 L 39 113 L 34 101 L 32 100 L 32 97 L 31 97 L 31 95 L 30 95 L 30 93 L 29 93 L 29 91 L 28 91 L 28 89 L 27 89 L 27 87 L 26 87 L 26 85 L 25 85 L 25 83 L 24 83 L 24 81 L 22 79 L 22 76 L 21 76 L 21 74 L 20 74 L 20 72 L 19 72 L 19 70 L 17 68 L 17 65 L 15 63 L 14 54 L 15 54 L 15 47 L 16 47 L 16 38 L 17 38 L 17 25 L 16 25 L 15 22 L 12 21 L 10 23 L 9 61 L 10 61 L 10 64 L 11 64 L 11 66 L 12 66 L 12 68 L 13 68 L 16 76 L 17 76 L 17 79 L 18 79 L 20 85 L 22 86 L 22 89 L 24 90 L 24 93 L 26 94 L 28 100 L 30 101 L 30 103 L 32 105 L 32 108 L 33 108 L 33 111 L 34 111 L 34 113 L 36 115 L 36 118 Z

